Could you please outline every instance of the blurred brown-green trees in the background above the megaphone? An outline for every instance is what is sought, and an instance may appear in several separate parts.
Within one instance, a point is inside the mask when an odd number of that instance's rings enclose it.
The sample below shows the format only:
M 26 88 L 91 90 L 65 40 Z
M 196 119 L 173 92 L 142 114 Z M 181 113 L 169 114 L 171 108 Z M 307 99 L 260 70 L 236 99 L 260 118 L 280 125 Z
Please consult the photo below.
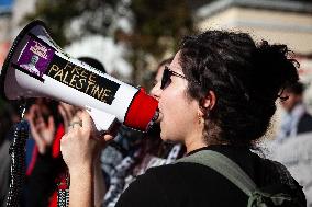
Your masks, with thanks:
M 126 43 L 134 84 L 145 85 L 146 68 L 177 49 L 180 37 L 193 32 L 187 0 L 40 0 L 25 20 L 42 19 L 60 47 L 89 34 L 112 36 Z M 131 26 L 125 31 L 120 20 Z

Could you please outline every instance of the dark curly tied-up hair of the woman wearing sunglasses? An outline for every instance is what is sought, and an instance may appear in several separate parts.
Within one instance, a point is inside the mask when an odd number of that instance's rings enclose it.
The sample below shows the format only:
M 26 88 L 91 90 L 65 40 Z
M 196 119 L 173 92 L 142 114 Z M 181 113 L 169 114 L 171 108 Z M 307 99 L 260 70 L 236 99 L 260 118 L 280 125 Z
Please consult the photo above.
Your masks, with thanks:
M 276 100 L 298 81 L 297 61 L 286 45 L 256 45 L 246 33 L 208 31 L 183 38 L 180 65 L 189 80 L 188 94 L 199 102 L 216 95 L 207 113 L 204 137 L 248 145 L 261 137 L 276 112 Z M 193 82 L 200 82 L 194 84 Z

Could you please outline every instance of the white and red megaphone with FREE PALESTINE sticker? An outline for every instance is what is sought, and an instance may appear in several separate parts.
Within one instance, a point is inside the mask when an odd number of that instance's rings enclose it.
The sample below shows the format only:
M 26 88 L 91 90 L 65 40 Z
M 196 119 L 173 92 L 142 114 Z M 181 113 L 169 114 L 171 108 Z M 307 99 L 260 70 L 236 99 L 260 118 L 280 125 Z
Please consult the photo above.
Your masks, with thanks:
M 154 97 L 71 58 L 38 20 L 14 39 L 0 78 L 5 99 L 49 97 L 87 108 L 99 131 L 116 120 L 145 131 L 158 116 Z

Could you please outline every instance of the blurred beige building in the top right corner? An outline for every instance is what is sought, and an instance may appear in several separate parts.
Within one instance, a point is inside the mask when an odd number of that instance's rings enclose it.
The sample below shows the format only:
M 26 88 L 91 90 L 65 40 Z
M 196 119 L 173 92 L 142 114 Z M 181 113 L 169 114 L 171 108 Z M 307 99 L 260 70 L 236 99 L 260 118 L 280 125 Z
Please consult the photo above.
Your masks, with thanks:
M 312 2 L 300 0 L 215 0 L 196 12 L 200 31 L 232 30 L 257 41 L 287 44 L 300 62 L 303 82 L 312 85 Z M 307 90 L 312 108 L 312 87 Z

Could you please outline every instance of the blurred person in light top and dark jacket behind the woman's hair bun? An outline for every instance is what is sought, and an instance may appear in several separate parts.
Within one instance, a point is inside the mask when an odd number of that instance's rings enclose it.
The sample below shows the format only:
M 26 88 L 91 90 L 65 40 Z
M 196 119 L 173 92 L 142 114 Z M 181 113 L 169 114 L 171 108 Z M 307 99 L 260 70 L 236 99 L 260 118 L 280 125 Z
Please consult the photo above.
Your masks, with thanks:
M 282 94 L 288 99 L 281 101 L 283 113 L 277 133 L 278 142 L 282 142 L 289 137 L 312 131 L 312 116 L 308 113 L 303 103 L 303 83 L 298 82 L 286 87 Z

